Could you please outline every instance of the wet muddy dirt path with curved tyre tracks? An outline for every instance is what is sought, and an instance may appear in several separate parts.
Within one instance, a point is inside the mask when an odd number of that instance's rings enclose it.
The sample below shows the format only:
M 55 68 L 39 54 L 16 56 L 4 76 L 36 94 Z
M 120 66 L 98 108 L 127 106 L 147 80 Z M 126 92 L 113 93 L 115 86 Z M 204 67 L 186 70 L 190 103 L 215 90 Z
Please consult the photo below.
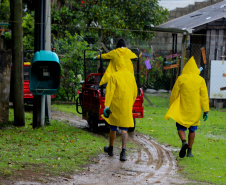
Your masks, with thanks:
M 75 127 L 88 129 L 87 122 L 80 117 L 53 111 L 52 118 L 66 120 Z M 170 147 L 160 145 L 136 131 L 129 134 L 129 139 L 138 145 L 138 150 L 127 152 L 127 161 L 119 160 L 119 148 L 113 157 L 103 152 L 93 159 L 94 163 L 89 164 L 87 170 L 51 184 L 196 184 L 177 174 L 179 169 Z

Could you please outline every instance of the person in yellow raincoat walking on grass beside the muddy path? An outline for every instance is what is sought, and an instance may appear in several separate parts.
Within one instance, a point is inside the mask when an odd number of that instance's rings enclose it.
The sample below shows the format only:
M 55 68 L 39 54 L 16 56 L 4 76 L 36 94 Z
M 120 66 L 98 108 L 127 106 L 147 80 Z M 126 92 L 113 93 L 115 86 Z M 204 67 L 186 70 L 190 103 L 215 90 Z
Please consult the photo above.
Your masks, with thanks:
M 178 135 L 182 141 L 179 156 L 193 157 L 192 145 L 195 139 L 195 130 L 200 125 L 200 116 L 203 110 L 204 121 L 208 118 L 209 98 L 205 80 L 199 75 L 200 70 L 191 57 L 184 66 L 182 75 L 176 80 L 170 97 L 170 108 L 165 119 L 176 121 Z M 185 131 L 189 129 L 188 143 Z

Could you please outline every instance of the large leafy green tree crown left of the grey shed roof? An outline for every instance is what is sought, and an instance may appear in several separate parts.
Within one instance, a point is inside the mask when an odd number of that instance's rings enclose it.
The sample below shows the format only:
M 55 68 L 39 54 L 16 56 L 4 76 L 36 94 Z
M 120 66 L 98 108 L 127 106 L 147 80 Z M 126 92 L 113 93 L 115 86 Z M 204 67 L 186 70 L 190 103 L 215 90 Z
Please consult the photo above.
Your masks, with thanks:
M 68 0 L 61 9 L 54 8 L 52 24 L 57 25 L 54 30 L 58 34 L 73 26 L 79 30 L 77 33 L 87 35 L 97 33 L 96 29 L 90 28 L 101 26 L 104 37 L 124 36 L 123 31 L 116 30 L 148 31 L 151 26 L 167 20 L 167 16 L 168 11 L 158 5 L 158 0 Z M 151 37 L 145 32 L 130 33 L 140 39 Z

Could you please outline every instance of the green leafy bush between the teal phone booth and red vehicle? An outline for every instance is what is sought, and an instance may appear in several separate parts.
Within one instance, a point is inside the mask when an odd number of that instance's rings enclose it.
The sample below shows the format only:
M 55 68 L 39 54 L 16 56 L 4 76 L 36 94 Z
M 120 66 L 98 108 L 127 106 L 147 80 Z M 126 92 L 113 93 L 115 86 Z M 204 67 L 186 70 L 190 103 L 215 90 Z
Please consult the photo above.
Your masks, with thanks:
M 57 93 L 58 99 L 67 97 L 74 101 L 79 89 L 78 75 L 83 73 L 83 51 L 88 49 L 88 43 L 78 34 L 71 35 L 65 31 L 65 37 L 56 40 L 55 46 L 62 66 L 61 87 Z

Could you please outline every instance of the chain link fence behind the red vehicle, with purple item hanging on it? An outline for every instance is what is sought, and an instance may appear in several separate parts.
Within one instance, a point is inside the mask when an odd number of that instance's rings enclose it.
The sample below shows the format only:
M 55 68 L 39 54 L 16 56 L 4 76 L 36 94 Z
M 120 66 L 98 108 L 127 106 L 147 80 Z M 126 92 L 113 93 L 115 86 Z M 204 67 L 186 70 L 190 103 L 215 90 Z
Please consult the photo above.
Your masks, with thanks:
M 86 78 L 89 73 L 98 71 L 99 64 L 93 61 L 92 57 L 100 53 L 95 50 L 99 49 L 101 53 L 107 53 L 116 48 L 116 44 L 120 38 L 96 36 L 85 37 L 83 39 L 88 43 L 88 47 L 90 48 L 90 50 L 85 51 L 85 55 L 80 60 L 81 63 L 85 64 L 83 66 L 86 68 L 84 72 L 85 76 L 83 74 L 82 76 Z M 158 38 L 155 38 L 154 41 L 141 41 L 134 38 L 124 39 L 126 40 L 127 47 L 139 57 L 139 65 L 137 61 L 132 61 L 134 64 L 134 74 L 139 86 L 144 89 L 171 90 L 175 79 L 180 74 L 179 63 L 181 60 L 182 44 L 161 42 L 158 41 Z M 61 51 L 57 52 L 61 53 Z M 108 62 L 103 61 L 105 68 L 107 68 Z

